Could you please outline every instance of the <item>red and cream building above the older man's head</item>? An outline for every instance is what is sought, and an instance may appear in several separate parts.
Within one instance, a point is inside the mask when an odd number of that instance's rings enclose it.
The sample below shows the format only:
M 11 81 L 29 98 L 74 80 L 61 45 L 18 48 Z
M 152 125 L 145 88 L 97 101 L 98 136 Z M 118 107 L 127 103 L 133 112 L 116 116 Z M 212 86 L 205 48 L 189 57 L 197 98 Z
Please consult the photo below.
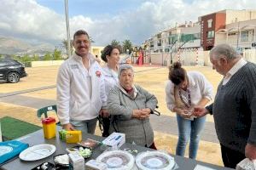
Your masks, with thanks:
M 198 18 L 201 47 L 210 50 L 219 43 L 235 48 L 251 48 L 255 41 L 256 10 L 222 10 Z

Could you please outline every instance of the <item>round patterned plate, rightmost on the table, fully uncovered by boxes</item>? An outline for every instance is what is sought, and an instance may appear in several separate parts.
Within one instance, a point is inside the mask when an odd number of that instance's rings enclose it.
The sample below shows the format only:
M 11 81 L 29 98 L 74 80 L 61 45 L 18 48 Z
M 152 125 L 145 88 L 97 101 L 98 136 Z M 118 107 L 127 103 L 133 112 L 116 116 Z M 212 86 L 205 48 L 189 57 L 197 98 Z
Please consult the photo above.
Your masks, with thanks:
M 136 157 L 136 164 L 140 170 L 170 170 L 174 167 L 175 161 L 172 156 L 164 152 L 146 151 Z

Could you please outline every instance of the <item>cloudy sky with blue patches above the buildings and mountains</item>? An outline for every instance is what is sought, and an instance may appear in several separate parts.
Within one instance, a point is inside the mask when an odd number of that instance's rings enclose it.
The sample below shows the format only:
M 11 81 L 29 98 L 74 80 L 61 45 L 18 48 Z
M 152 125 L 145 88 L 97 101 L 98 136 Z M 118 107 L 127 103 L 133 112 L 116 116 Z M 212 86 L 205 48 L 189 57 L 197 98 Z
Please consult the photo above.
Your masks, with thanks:
M 1 0 L 0 37 L 30 43 L 61 43 L 67 37 L 64 0 Z M 106 45 L 113 39 L 141 44 L 175 23 L 223 9 L 256 9 L 253 0 L 69 0 L 73 32 L 84 29 Z

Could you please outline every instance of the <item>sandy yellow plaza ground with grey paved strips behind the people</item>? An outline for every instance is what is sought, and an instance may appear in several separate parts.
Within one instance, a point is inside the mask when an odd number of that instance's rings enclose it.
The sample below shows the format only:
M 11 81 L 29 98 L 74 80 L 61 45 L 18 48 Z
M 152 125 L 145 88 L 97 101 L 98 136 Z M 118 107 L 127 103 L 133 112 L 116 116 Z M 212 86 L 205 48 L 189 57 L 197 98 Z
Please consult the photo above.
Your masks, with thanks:
M 0 83 L 0 117 L 14 116 L 26 122 L 41 125 L 35 112 L 46 105 L 55 105 L 55 78 L 58 67 L 27 68 L 29 77 L 19 83 Z M 160 150 L 175 153 L 177 143 L 177 122 L 175 114 L 166 108 L 165 82 L 168 75 L 166 67 L 136 67 L 135 82 L 155 94 L 159 100 L 161 116 L 151 116 L 155 142 Z M 186 67 L 188 71 L 201 71 L 212 82 L 215 90 L 220 76 L 209 67 Z M 97 129 L 97 134 L 100 134 Z M 197 159 L 222 165 L 218 139 L 212 116 L 207 116 L 207 123 L 201 137 Z

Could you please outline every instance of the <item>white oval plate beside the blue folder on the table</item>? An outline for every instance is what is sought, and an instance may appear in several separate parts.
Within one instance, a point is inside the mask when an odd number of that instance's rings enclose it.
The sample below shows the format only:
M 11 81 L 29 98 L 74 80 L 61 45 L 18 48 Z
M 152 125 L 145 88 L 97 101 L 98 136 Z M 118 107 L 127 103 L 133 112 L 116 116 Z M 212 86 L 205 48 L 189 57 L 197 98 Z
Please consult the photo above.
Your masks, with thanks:
M 23 150 L 20 159 L 23 161 L 37 161 L 55 153 L 56 147 L 53 144 L 38 144 Z

